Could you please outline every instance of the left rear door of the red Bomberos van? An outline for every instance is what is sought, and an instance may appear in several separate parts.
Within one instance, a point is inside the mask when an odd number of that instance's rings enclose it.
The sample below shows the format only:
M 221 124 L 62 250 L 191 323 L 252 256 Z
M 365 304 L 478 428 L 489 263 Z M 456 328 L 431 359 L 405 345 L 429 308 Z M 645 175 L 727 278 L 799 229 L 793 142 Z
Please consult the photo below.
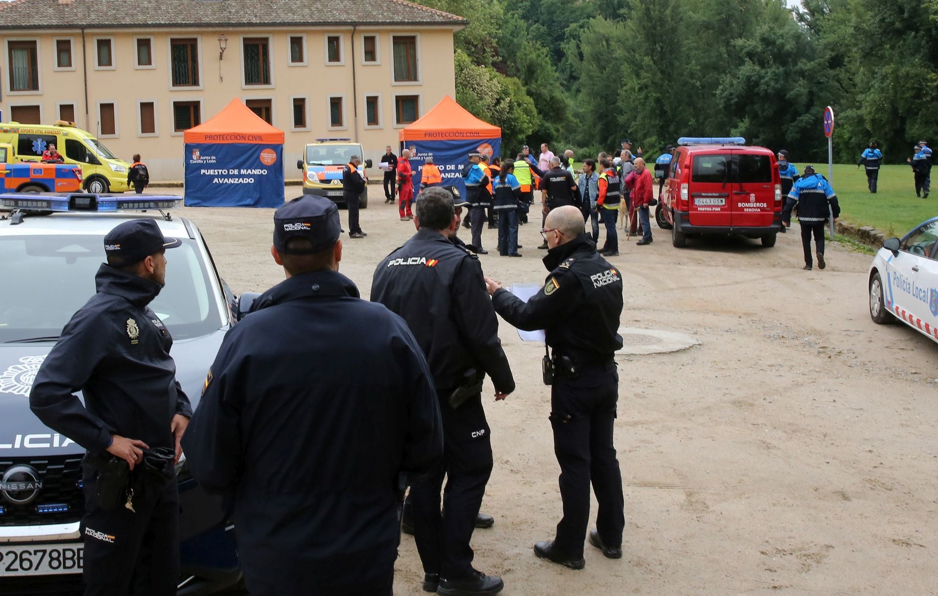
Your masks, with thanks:
M 733 153 L 694 152 L 690 158 L 688 220 L 691 225 L 729 227 Z

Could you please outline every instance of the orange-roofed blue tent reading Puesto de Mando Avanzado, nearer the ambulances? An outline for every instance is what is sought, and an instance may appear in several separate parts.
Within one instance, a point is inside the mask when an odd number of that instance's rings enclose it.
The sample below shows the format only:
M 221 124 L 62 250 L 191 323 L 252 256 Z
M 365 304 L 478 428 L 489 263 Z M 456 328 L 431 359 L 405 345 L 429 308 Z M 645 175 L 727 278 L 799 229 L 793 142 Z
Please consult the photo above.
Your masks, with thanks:
M 187 206 L 283 205 L 283 131 L 240 99 L 183 138 Z

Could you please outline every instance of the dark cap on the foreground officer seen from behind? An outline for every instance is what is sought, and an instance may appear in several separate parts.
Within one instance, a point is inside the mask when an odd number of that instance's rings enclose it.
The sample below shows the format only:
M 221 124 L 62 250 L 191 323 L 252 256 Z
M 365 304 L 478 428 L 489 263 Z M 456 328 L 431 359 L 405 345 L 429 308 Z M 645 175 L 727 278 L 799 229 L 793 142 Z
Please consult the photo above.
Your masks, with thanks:
M 274 248 L 281 254 L 311 254 L 325 251 L 342 233 L 339 207 L 322 196 L 296 197 L 274 212 Z M 287 250 L 290 238 L 306 238 L 312 247 Z

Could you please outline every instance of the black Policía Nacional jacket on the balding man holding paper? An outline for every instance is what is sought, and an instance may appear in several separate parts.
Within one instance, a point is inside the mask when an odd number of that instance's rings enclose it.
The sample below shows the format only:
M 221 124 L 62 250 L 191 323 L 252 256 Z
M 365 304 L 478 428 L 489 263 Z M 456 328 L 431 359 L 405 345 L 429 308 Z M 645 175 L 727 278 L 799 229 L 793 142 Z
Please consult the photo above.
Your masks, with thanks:
M 551 249 L 544 287 L 526 303 L 505 289 L 492 296 L 495 311 L 518 329 L 544 329 L 554 354 L 580 365 L 609 361 L 622 347 L 622 275 L 596 252 L 586 234 Z

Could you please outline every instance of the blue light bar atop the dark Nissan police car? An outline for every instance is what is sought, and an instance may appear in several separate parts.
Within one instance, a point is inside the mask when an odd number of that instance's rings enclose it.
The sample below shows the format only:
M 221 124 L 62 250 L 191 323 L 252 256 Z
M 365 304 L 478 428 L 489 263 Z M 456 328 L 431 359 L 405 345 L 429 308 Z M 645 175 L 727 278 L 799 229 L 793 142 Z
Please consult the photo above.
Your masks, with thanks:
M 150 195 L 144 199 L 80 192 L 0 194 L 0 207 L 23 211 L 145 211 L 147 209 L 172 209 L 181 205 L 182 198 L 178 196 Z

